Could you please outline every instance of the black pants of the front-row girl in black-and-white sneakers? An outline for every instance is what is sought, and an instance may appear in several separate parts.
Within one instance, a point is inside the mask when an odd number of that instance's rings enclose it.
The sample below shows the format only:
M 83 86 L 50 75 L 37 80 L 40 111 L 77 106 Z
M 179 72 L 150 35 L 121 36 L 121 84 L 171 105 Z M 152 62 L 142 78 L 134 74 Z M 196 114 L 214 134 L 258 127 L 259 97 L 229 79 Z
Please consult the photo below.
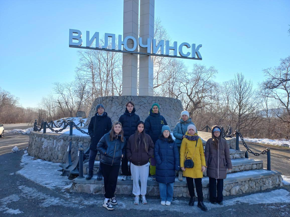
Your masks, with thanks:
M 110 199 L 115 194 L 120 164 L 113 166 L 104 163 L 101 164 L 104 176 L 105 198 Z

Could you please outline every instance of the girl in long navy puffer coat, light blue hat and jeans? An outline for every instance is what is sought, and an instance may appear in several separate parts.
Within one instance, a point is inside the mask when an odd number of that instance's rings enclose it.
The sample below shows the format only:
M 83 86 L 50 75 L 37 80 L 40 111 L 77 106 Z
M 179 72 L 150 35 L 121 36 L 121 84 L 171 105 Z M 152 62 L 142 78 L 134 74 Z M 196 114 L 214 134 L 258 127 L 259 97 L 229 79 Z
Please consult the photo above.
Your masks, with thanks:
M 159 182 L 161 205 L 170 205 L 173 197 L 175 171 L 180 169 L 177 145 L 170 135 L 170 127 L 162 127 L 162 135 L 155 143 L 156 181 Z

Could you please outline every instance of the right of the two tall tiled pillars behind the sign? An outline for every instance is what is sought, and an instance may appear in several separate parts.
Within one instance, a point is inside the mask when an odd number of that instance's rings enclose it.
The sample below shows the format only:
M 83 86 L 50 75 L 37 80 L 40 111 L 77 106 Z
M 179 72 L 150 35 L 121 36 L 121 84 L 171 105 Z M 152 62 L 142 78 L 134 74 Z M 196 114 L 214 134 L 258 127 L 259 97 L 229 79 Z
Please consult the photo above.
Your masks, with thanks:
M 155 0 L 140 0 L 140 37 L 147 44 L 147 38 L 154 36 Z M 139 48 L 147 53 L 147 48 Z M 139 96 L 153 96 L 153 56 L 139 55 Z

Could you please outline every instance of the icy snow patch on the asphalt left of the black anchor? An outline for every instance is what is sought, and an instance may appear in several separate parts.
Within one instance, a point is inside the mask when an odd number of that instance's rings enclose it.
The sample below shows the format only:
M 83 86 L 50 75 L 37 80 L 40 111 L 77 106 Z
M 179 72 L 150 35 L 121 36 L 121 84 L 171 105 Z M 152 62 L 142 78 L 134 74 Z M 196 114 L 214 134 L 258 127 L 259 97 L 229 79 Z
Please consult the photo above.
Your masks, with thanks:
M 23 168 L 17 173 L 30 179 L 39 185 L 55 189 L 56 187 L 65 189 L 71 184 L 67 176 L 61 176 L 59 163 L 44 161 L 41 159 L 34 160 L 34 157 L 28 155 L 27 151 L 22 156 L 21 166 Z

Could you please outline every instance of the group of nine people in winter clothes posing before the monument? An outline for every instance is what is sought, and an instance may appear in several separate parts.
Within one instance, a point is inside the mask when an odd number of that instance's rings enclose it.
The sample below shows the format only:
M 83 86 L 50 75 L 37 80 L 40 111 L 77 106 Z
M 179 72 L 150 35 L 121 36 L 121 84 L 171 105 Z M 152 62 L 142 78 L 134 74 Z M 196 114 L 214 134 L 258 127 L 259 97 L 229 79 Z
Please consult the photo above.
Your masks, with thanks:
M 161 205 L 171 205 L 175 176 L 182 181 L 186 177 L 189 190 L 189 206 L 194 206 L 197 192 L 197 207 L 207 211 L 203 203 L 203 172 L 209 177 L 209 200 L 222 205 L 223 180 L 227 169 L 232 169 L 229 146 L 221 136 L 219 126 L 212 127 L 212 138 L 206 142 L 205 150 L 198 136 L 195 124 L 188 111 L 182 111 L 180 122 L 173 130 L 160 114 L 160 106 L 154 103 L 145 121 L 135 113 L 135 104 L 126 103 L 126 109 L 119 121 L 112 124 L 102 104 L 96 106 L 97 113 L 90 120 L 88 132 L 91 137 L 88 175 L 93 177 L 94 162 L 100 153 L 100 165 L 97 180 L 104 177 L 105 199 L 103 207 L 113 210 L 117 204 L 115 190 L 119 168 L 122 168 L 122 180 L 133 180 L 134 204 L 140 201 L 147 204 L 147 179 L 150 174 L 159 183 Z M 130 161 L 128 166 L 128 161 Z M 207 168 L 207 169 L 206 169 Z M 141 188 L 139 186 L 139 180 Z

